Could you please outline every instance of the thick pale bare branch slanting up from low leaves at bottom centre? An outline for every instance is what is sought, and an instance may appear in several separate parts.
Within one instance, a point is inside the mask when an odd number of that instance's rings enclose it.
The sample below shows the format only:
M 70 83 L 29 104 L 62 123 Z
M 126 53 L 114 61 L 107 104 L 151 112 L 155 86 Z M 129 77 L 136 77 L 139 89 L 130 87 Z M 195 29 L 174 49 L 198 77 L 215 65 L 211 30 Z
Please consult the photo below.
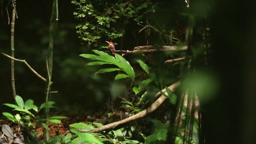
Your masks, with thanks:
M 176 82 L 176 83 L 172 84 L 171 86 L 169 86 L 168 88 L 170 90 L 174 91 L 179 84 L 180 84 L 180 82 Z M 168 95 L 165 89 L 162 90 L 162 92 L 164 92 L 164 94 Z M 156 95 L 160 95 L 160 92 L 158 92 Z M 166 99 L 167 98 L 164 95 L 161 95 L 153 104 L 151 104 L 150 107 L 148 107 L 145 110 L 142 110 L 138 114 L 135 114 L 134 116 L 120 120 L 118 122 L 113 122 L 110 124 L 106 124 L 104 126 L 100 126 L 98 128 L 88 131 L 87 133 L 102 132 L 104 130 L 114 129 L 114 128 L 116 128 L 116 126 L 120 126 L 121 124 L 125 124 L 128 122 L 131 122 L 132 120 L 137 120 L 137 119 L 143 118 L 144 116 L 146 116 L 146 115 L 150 114 L 151 112 L 153 112 L 154 110 L 156 110 Z

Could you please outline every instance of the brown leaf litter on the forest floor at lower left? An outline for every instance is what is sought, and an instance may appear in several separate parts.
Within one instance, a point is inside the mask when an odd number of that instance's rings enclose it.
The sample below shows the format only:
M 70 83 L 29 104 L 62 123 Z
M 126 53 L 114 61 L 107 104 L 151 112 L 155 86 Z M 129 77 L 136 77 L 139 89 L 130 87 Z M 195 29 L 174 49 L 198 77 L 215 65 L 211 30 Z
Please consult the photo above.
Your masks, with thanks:
M 76 110 L 77 111 L 77 110 Z M 93 111 L 90 111 L 92 114 Z M 82 123 L 88 123 L 88 117 L 93 117 L 93 118 L 103 118 L 104 117 L 104 112 L 93 112 L 93 115 L 89 116 L 87 112 L 83 112 L 80 110 L 79 113 L 74 112 L 52 112 L 50 116 L 66 116 L 68 117 L 67 119 L 62 119 L 60 124 L 52 123 L 49 122 L 49 137 L 51 136 L 58 136 L 58 135 L 66 135 L 70 133 L 70 124 L 77 123 L 77 122 L 82 122 Z M 43 117 L 43 116 L 42 116 Z M 104 118 L 106 119 L 106 118 Z M 34 121 L 36 123 L 36 121 Z M 7 125 L 7 126 L 6 126 Z M 4 126 L 4 127 L 3 127 Z M 4 129 L 8 130 L 10 128 L 10 133 L 13 133 L 12 136 L 8 136 L 6 132 L 4 132 Z M 33 139 L 36 141 L 41 141 L 43 140 L 43 128 L 42 126 L 33 126 L 33 130 L 30 132 L 39 132 L 38 135 L 34 136 Z M 9 120 L 8 118 L 4 117 L 2 120 L 0 120 L 0 144 L 12 144 L 12 143 L 18 143 L 18 144 L 24 144 L 24 131 L 22 130 L 20 124 L 16 124 Z

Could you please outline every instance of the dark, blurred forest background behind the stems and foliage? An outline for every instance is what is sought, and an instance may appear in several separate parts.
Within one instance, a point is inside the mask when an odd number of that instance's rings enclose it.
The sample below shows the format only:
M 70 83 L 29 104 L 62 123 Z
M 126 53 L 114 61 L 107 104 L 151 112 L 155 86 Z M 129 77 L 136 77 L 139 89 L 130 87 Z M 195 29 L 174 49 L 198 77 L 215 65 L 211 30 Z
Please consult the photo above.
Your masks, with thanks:
M 172 2 L 157 1 L 162 9 L 174 8 Z M 176 2 L 176 1 L 175 1 Z M 173 2 L 173 3 L 175 3 Z M 191 11 L 200 12 L 194 7 L 202 0 L 191 0 Z M 203 132 L 206 143 L 235 144 L 254 143 L 256 134 L 256 17 L 253 0 L 209 0 L 209 26 L 212 33 L 211 68 L 220 80 L 220 91 L 205 104 L 202 104 Z M 52 1 L 17 1 L 18 19 L 15 23 L 15 57 L 25 59 L 39 74 L 46 76 L 46 52 L 48 48 L 49 20 Z M 2 0 L 0 23 L 0 52 L 10 53 L 10 25 Z M 176 7 L 177 8 L 177 7 Z M 179 7 L 178 7 L 179 8 Z M 11 14 L 11 7 L 8 7 Z M 69 0 L 59 1 L 59 21 L 54 40 L 54 63 L 52 90 L 58 93 L 51 96 L 57 107 L 64 111 L 85 112 L 104 108 L 108 101 L 109 88 L 114 80 L 112 74 L 94 76 L 97 68 L 85 66 L 87 61 L 79 54 L 90 53 L 78 38 L 74 18 L 76 6 Z M 161 9 L 161 8 L 160 8 Z M 182 9 L 182 8 L 180 8 Z M 168 21 L 170 11 L 159 11 L 159 19 Z M 181 13 L 181 12 L 180 12 Z M 174 15 L 182 17 L 179 12 Z M 166 21 L 165 21 L 166 22 Z M 187 19 L 184 18 L 184 22 Z M 130 27 L 139 30 L 135 25 Z M 122 48 L 132 50 L 135 46 L 146 45 L 145 33 L 134 38 L 128 30 Z M 116 42 L 120 42 L 117 39 Z M 158 44 L 157 40 L 153 44 Z M 136 55 L 126 59 L 131 63 Z M 161 56 L 157 56 L 161 59 Z M 13 103 L 10 81 L 10 59 L 0 56 L 0 104 Z M 41 104 L 45 99 L 45 83 L 36 77 L 23 63 L 15 62 L 17 94 L 24 99 L 33 99 Z M 0 105 L 1 112 L 8 111 Z

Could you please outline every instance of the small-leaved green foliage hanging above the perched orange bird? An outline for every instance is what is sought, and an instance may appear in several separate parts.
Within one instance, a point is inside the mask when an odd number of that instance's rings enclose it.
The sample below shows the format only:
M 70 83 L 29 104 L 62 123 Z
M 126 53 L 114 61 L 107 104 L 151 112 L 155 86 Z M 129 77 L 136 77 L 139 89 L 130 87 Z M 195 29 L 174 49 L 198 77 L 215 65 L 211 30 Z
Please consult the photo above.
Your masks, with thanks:
M 101 46 L 102 37 L 113 40 L 124 36 L 127 24 L 140 21 L 154 9 L 151 2 L 143 0 L 72 0 L 72 4 L 78 7 L 73 14 L 81 21 L 76 26 L 79 38 L 94 46 Z

